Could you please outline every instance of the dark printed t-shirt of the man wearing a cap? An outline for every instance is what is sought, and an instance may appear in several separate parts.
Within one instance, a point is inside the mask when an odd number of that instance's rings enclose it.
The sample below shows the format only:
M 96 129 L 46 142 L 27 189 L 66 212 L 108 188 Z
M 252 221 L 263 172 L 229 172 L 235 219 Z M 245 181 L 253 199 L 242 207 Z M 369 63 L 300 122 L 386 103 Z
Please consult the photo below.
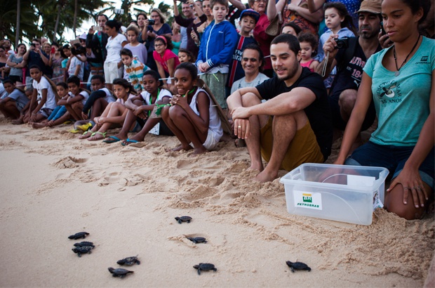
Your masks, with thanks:
M 376 52 L 381 49 L 381 46 L 377 46 Z M 358 39 L 356 40 L 354 53 L 350 60 L 345 59 L 345 52 L 346 49 L 342 48 L 338 51 L 337 55 L 335 55 L 337 67 L 343 67 L 343 69 L 338 70 L 335 75 L 333 84 L 330 88 L 330 96 L 339 96 L 342 91 L 347 89 L 358 90 L 359 84 L 361 84 L 363 67 L 366 65 L 367 58 L 366 54 L 364 54 L 363 48 L 359 45 Z M 347 64 L 342 63 L 342 61 L 346 60 L 348 61 Z

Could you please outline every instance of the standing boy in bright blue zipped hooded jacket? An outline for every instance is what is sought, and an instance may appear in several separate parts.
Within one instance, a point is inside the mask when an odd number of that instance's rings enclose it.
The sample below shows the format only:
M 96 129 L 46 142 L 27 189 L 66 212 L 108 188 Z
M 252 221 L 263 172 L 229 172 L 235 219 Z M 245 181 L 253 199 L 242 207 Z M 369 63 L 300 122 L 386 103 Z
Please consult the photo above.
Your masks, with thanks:
M 201 75 L 201 79 L 206 82 L 219 105 L 226 109 L 225 84 L 238 36 L 236 28 L 225 20 L 228 0 L 211 0 L 210 7 L 215 19 L 204 30 L 196 66 L 199 72 L 206 73 Z

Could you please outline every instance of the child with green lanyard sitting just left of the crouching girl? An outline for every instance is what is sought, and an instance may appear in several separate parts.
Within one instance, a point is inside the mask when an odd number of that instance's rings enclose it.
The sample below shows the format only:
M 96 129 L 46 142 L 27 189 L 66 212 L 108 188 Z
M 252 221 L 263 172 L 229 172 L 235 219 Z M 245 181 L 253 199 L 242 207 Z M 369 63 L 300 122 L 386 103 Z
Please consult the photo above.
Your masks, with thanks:
M 161 86 L 161 81 L 159 81 L 159 73 L 153 70 L 144 72 L 143 85 L 145 87 L 145 91 L 140 93 L 139 96 L 128 99 L 126 102 L 128 112 L 126 121 L 124 122 L 121 131 L 114 136 L 109 136 L 109 138 L 103 142 L 114 143 L 120 141 L 121 139 L 126 139 L 123 141 L 122 145 L 142 142 L 147 133 L 156 125 L 159 125 L 159 135 L 173 136 L 173 133 L 168 129 L 165 122 L 163 122 L 161 118 L 150 117 L 152 110 L 154 107 L 156 107 L 156 104 L 168 104 L 170 98 L 172 98 L 172 94 L 166 89 L 159 88 Z M 142 130 L 140 130 L 140 132 L 132 138 L 127 138 L 128 131 L 130 131 L 131 127 L 134 126 L 136 121 L 142 122 L 142 124 L 145 122 L 145 124 L 142 125 Z

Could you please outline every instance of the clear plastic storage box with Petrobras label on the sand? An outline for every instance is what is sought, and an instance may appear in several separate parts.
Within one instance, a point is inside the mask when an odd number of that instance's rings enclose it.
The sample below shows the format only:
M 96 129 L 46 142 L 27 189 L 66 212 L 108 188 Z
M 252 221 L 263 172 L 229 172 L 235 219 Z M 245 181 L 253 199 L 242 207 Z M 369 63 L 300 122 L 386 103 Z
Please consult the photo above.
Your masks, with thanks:
M 384 201 L 388 169 L 305 163 L 280 180 L 290 214 L 370 225 L 373 202 Z

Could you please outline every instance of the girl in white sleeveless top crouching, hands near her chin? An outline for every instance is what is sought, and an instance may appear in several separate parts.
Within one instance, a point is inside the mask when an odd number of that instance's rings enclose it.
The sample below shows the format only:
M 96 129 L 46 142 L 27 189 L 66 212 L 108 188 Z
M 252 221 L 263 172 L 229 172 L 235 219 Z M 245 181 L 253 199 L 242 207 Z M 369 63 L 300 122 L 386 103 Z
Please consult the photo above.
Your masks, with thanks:
M 195 86 L 197 78 L 195 65 L 178 65 L 174 74 L 178 94 L 170 100 L 172 106 L 164 107 L 161 112 L 166 125 L 181 142 L 173 151 L 194 149 L 194 154 L 207 152 L 215 148 L 223 134 L 217 108 L 208 93 Z

